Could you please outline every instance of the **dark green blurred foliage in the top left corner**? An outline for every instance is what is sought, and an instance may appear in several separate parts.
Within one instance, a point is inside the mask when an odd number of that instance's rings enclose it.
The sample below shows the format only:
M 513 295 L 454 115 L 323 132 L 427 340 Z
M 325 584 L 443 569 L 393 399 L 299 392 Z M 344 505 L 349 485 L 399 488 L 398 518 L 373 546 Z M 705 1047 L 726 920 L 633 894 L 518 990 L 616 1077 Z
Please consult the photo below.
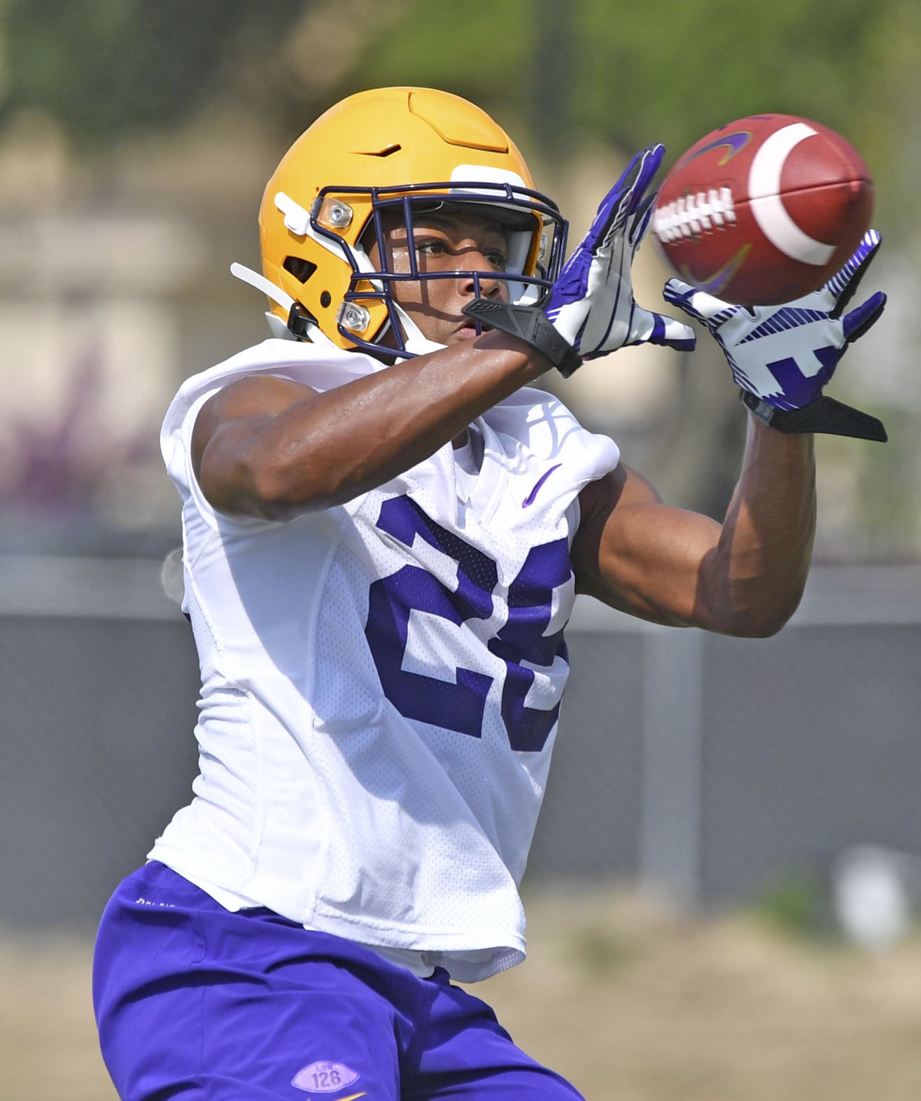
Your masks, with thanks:
M 7 0 L 0 117 L 43 108 L 92 148 L 175 127 L 233 87 L 250 57 L 268 68 L 273 40 L 301 10 L 290 0 Z

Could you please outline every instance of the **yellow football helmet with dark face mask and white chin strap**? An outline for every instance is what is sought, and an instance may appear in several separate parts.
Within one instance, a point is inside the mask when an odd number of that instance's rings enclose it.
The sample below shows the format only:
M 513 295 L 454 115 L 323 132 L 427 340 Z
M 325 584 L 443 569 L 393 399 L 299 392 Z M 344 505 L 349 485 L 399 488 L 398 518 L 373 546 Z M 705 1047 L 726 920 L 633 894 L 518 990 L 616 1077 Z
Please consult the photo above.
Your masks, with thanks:
M 420 274 L 415 259 L 408 274 L 388 271 L 382 214 L 396 208 L 412 236 L 414 210 L 447 204 L 489 207 L 509 254 L 506 271 L 491 277 L 508 281 L 512 302 L 540 301 L 566 248 L 559 208 L 534 189 L 522 154 L 489 115 L 431 88 L 361 91 L 321 115 L 265 188 L 263 276 L 233 271 L 268 295 L 276 333 L 390 358 L 425 351 L 435 346 L 399 309 L 394 283 L 464 273 Z M 375 242 L 377 268 L 369 258 Z

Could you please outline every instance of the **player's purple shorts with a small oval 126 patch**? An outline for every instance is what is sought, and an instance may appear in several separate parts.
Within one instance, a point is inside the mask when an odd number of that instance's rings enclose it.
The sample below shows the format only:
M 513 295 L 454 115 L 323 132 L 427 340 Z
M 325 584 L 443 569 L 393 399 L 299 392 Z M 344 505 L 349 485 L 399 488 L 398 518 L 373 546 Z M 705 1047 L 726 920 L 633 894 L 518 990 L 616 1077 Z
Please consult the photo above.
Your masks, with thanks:
M 446 971 L 418 979 L 268 909 L 232 914 L 163 864 L 106 907 L 92 992 L 123 1101 L 581 1097 Z

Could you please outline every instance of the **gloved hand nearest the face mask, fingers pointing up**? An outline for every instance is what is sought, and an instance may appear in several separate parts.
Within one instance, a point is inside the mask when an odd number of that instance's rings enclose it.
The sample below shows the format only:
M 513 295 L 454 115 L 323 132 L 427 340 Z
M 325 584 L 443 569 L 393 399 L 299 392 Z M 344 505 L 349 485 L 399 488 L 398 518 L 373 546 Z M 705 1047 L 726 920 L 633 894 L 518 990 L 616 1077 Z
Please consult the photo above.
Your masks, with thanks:
M 650 145 L 637 153 L 602 199 L 591 229 L 566 262 L 544 312 L 583 359 L 628 345 L 694 347 L 694 330 L 682 321 L 638 306 L 631 264 L 646 230 L 655 194 L 646 190 L 665 153 Z

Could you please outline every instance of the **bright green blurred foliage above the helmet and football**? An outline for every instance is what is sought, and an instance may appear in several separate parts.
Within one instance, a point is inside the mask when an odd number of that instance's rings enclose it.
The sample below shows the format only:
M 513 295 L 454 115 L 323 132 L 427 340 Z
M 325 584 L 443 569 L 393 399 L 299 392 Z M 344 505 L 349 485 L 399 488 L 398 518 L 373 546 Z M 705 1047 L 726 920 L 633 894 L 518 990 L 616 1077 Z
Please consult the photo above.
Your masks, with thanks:
M 450 88 L 524 120 L 524 144 L 551 154 L 580 135 L 662 141 L 668 164 L 733 119 L 801 115 L 854 142 L 890 190 L 918 155 L 919 57 L 917 0 L 413 0 L 355 72 Z

